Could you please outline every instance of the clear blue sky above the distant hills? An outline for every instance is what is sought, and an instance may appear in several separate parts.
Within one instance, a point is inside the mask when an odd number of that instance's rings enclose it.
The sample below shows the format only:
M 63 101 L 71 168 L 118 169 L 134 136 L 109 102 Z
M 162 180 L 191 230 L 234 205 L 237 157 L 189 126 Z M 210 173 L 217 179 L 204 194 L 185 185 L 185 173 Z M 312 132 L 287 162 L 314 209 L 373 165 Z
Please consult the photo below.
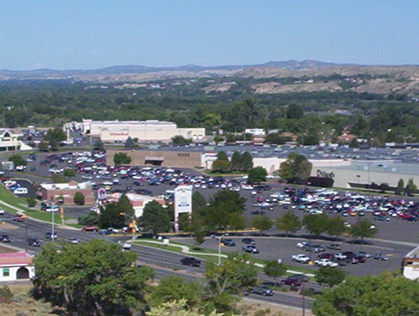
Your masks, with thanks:
M 0 0 L 0 69 L 419 64 L 414 1 Z

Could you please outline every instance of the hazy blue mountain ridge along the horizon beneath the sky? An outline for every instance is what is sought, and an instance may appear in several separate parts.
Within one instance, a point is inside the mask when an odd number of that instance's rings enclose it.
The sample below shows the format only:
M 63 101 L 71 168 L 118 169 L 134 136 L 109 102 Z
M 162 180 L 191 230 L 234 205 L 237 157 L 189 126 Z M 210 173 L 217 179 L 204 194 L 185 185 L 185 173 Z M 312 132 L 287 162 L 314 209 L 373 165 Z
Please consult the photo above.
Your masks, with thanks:
M 313 68 L 333 67 L 338 64 L 325 63 L 319 61 L 283 61 L 268 62 L 257 65 L 225 65 L 225 66 L 199 66 L 185 65 L 178 67 L 148 67 L 143 65 L 124 65 L 111 66 L 100 69 L 91 70 L 54 70 L 54 69 L 35 69 L 35 70 L 0 70 L 1 80 L 24 80 L 24 79 L 47 79 L 47 78 L 69 78 L 79 76 L 95 76 L 95 75 L 121 75 L 121 74 L 144 74 L 154 72 L 219 72 L 219 71 L 239 71 L 246 68 L 282 68 L 287 70 L 309 70 Z

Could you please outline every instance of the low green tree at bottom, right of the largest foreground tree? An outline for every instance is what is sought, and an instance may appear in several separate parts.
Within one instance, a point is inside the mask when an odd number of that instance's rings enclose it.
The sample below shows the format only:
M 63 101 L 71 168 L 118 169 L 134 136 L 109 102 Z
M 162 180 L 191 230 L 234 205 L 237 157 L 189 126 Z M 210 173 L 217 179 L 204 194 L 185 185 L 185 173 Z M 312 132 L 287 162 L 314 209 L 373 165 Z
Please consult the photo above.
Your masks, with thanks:
M 198 282 L 186 282 L 179 275 L 168 275 L 160 280 L 151 292 L 151 306 L 165 302 L 186 300 L 186 308 L 198 308 L 202 305 L 204 287 Z

